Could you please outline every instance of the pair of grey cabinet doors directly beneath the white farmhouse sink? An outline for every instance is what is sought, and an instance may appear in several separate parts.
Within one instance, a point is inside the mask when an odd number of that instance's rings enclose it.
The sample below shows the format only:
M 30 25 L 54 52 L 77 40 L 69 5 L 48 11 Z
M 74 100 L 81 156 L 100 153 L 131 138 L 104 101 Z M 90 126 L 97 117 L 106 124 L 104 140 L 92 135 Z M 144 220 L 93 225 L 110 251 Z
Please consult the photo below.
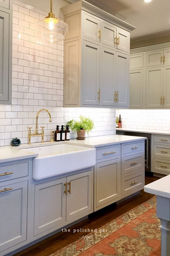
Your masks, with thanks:
M 89 170 L 35 185 L 34 236 L 93 212 L 93 176 Z

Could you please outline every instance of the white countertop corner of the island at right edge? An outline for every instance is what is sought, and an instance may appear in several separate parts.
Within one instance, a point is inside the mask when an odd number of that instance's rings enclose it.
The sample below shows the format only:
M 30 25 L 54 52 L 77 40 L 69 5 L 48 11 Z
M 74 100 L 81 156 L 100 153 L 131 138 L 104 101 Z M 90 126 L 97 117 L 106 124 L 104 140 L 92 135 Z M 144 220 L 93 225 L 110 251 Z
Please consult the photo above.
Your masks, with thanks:
M 149 183 L 144 187 L 144 191 L 157 196 L 170 198 L 170 175 Z

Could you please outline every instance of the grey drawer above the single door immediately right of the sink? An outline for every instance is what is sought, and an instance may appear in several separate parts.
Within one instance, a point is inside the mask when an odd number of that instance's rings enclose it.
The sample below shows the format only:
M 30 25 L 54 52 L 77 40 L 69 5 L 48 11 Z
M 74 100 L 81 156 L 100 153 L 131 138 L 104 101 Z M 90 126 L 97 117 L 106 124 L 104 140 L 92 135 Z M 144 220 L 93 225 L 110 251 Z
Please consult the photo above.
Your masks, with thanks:
M 105 159 L 108 157 L 120 156 L 120 146 L 101 148 L 96 151 L 96 159 Z

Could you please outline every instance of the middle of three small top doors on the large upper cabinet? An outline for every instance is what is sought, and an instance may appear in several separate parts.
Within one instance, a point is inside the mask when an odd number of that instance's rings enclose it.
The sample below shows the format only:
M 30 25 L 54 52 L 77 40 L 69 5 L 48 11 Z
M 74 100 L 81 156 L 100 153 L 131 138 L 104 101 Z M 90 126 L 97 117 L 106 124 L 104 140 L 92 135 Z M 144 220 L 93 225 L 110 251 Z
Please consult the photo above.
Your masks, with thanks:
M 114 48 L 116 46 L 116 27 L 107 22 L 102 22 L 101 33 L 101 43 Z

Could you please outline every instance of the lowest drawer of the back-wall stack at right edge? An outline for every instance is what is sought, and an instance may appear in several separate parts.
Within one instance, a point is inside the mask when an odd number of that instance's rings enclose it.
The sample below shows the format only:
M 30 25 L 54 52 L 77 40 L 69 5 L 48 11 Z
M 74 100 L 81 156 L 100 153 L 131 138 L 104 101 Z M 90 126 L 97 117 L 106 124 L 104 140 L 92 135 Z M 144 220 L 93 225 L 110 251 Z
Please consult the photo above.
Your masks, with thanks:
M 170 161 L 153 158 L 153 172 L 168 175 L 170 174 Z

